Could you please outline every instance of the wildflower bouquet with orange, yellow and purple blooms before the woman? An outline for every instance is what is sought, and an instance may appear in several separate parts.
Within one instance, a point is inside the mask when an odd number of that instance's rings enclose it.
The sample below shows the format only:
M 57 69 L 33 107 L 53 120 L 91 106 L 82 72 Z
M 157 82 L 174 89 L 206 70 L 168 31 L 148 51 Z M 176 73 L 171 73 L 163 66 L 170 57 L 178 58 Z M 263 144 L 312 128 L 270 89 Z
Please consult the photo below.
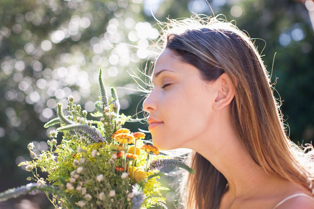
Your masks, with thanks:
M 131 133 L 122 128 L 131 116 L 119 114 L 120 104 L 114 87 L 108 99 L 101 72 L 100 68 L 97 112 L 90 113 L 99 120 L 87 120 L 87 111 L 81 112 L 80 105 L 73 104 L 73 96 L 68 97 L 68 116 L 58 103 L 58 117 L 44 125 L 45 128 L 60 125 L 48 134 L 50 150 L 37 154 L 34 144 L 30 143 L 28 150 L 34 160 L 18 165 L 26 165 L 25 169 L 32 173 L 27 180 L 35 180 L 35 183 L 0 193 L 0 201 L 44 192 L 56 209 L 167 208 L 160 191 L 169 189 L 158 182 L 163 175 L 159 170 L 164 166 L 178 166 L 191 173 L 194 170 L 160 154 L 157 147 L 144 144 L 144 133 Z M 63 133 L 59 145 L 58 132 Z M 48 173 L 46 179 L 37 173 L 39 168 Z

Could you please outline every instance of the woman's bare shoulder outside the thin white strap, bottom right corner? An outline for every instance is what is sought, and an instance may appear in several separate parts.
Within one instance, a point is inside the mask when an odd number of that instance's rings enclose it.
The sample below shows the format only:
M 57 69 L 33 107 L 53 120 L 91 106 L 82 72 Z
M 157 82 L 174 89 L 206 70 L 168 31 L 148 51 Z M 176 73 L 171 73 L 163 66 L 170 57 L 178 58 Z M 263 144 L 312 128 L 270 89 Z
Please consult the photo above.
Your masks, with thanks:
M 314 197 L 296 196 L 282 203 L 277 209 L 314 209 Z

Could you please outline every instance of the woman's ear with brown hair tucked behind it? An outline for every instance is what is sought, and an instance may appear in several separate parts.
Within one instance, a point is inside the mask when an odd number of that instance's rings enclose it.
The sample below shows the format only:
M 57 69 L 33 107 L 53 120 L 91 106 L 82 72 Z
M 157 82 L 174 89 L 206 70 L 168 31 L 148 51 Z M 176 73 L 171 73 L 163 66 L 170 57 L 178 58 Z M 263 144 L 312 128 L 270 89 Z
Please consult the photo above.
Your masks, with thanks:
M 215 82 L 217 96 L 213 102 L 213 109 L 220 110 L 230 104 L 235 93 L 233 91 L 232 81 L 225 72 L 221 74 Z

